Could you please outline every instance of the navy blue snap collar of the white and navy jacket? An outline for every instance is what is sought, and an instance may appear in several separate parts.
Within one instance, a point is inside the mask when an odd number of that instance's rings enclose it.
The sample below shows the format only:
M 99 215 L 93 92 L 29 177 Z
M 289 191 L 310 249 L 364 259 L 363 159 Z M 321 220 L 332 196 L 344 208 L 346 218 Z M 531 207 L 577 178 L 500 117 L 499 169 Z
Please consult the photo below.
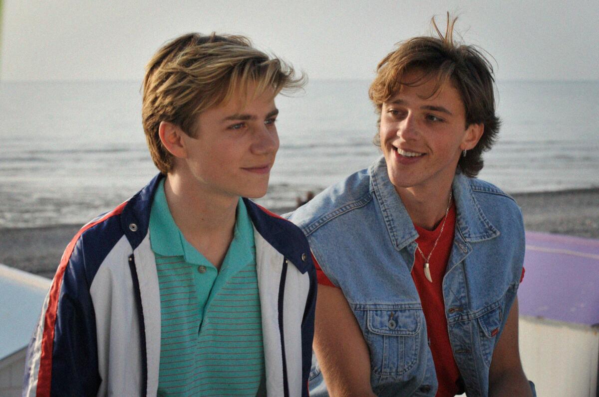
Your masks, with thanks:
M 162 178 L 164 175 L 156 175 L 142 190 L 129 198 L 123 208 L 121 227 L 133 249 L 140 245 L 148 233 L 152 200 Z M 247 198 L 243 198 L 243 202 L 254 227 L 274 249 L 291 260 L 301 273 L 313 266 L 307 240 L 298 227 Z

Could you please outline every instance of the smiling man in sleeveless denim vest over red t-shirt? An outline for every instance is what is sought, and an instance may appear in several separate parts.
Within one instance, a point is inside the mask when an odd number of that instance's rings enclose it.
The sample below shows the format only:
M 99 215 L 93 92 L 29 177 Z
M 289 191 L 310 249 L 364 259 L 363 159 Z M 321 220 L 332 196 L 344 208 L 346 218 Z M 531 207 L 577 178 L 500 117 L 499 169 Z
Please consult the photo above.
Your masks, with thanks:
M 516 292 L 518 205 L 476 178 L 499 132 L 483 51 L 444 32 L 397 45 L 370 99 L 383 152 L 289 217 L 316 260 L 311 396 L 531 396 Z

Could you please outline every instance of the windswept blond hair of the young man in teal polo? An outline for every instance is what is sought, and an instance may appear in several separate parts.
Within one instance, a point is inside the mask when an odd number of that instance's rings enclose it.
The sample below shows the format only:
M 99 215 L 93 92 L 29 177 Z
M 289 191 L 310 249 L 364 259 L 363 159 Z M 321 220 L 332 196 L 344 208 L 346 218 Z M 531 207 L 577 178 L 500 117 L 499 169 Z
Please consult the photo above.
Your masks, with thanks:
M 244 36 L 189 33 L 168 42 L 146 66 L 143 82 L 142 122 L 154 164 L 164 174 L 173 167 L 173 155 L 159 137 L 161 121 L 193 137 L 201 112 L 247 93 L 250 84 L 259 96 L 304 83 L 304 75 L 295 77 L 291 66 L 252 47 Z

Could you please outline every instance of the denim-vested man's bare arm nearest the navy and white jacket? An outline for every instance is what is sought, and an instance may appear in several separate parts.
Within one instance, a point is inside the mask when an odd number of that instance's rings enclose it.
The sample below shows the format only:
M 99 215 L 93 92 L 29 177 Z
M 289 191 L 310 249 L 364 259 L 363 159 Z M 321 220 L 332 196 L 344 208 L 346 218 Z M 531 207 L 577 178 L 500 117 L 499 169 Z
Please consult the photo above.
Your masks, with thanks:
M 374 396 L 370 353 L 340 288 L 318 286 L 314 352 L 330 396 Z

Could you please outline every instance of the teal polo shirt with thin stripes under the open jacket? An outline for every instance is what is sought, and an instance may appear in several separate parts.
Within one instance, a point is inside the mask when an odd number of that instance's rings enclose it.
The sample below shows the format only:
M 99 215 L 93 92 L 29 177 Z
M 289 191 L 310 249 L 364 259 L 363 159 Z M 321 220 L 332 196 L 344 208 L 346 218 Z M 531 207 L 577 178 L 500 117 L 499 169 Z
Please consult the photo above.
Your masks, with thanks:
M 220 271 L 181 234 L 164 180 L 150 213 L 161 300 L 159 396 L 264 394 L 264 348 L 252 222 L 237 204 Z

